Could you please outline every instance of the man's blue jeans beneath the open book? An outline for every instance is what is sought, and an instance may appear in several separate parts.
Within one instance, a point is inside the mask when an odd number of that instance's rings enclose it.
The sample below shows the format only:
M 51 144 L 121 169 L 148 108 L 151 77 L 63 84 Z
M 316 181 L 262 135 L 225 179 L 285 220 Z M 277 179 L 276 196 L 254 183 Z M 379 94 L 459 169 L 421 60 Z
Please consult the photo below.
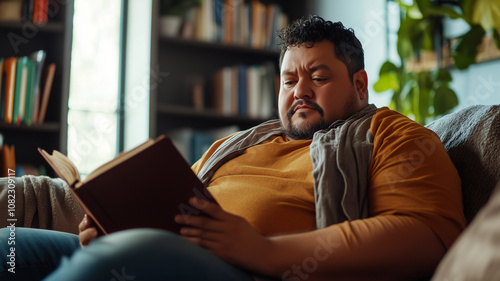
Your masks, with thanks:
M 73 234 L 16 228 L 11 273 L 11 236 L 8 228 L 0 229 L 0 280 L 253 280 L 250 273 L 202 247 L 153 229 L 114 233 L 81 249 Z

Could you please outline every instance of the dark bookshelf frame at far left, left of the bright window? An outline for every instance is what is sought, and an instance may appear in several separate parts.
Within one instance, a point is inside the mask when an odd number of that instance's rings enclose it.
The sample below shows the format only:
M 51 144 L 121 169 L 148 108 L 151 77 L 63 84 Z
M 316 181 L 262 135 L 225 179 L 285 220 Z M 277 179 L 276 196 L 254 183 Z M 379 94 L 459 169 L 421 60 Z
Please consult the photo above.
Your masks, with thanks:
M 28 56 L 35 51 L 45 50 L 44 68 L 50 63 L 56 65 L 43 123 L 16 125 L 0 120 L 3 143 L 15 147 L 16 164 L 46 166 L 37 147 L 47 151 L 57 149 L 64 154 L 67 152 L 73 9 L 73 1 L 51 1 L 48 21 L 42 25 L 27 20 L 0 20 L 0 58 Z

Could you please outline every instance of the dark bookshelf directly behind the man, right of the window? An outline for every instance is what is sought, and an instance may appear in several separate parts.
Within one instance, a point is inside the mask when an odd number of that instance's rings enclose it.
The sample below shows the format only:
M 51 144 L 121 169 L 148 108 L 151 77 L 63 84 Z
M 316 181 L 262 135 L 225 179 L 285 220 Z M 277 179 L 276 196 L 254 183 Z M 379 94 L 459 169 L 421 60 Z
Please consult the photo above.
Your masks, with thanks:
M 210 1 L 217 3 L 217 0 Z M 241 1 L 240 3 L 251 4 L 251 2 Z M 289 22 L 302 16 L 306 10 L 306 1 L 301 0 L 264 0 L 259 2 L 266 6 L 279 6 L 282 12 L 287 15 Z M 212 4 L 212 7 L 217 5 Z M 233 7 L 225 8 L 231 9 Z M 166 73 L 166 77 L 161 81 L 155 81 L 153 75 L 151 77 L 150 137 L 169 134 L 172 131 L 185 128 L 206 131 L 233 126 L 233 128 L 237 127 L 242 130 L 271 118 L 277 118 L 275 108 L 278 81 L 274 75 L 271 76 L 274 76 L 272 82 L 275 85 L 272 86 L 272 97 L 268 99 L 273 104 L 272 108 L 268 109 L 265 114 L 221 112 L 214 105 L 215 100 L 220 99 L 220 96 L 216 96 L 214 93 L 216 84 L 214 75 L 218 71 L 235 66 L 271 65 L 277 74 L 279 59 L 277 46 L 256 48 L 252 47 L 251 43 L 221 43 L 217 40 L 185 39 L 181 35 L 165 36 L 161 34 L 160 30 L 159 0 L 153 1 L 152 11 L 151 69 L 159 69 L 161 73 Z M 229 12 L 226 11 L 227 13 Z M 272 77 L 271 79 L 273 79 Z M 203 107 L 199 106 L 199 102 L 196 106 L 196 102 L 193 101 L 195 98 L 193 98 L 192 89 L 193 84 L 196 83 L 201 85 L 203 89 Z M 246 83 L 249 84 L 250 81 Z M 239 93 L 239 91 L 236 92 Z M 246 92 L 245 95 L 250 99 L 250 91 Z M 239 99 L 241 100 L 241 96 Z M 250 103 L 249 100 L 246 102 Z

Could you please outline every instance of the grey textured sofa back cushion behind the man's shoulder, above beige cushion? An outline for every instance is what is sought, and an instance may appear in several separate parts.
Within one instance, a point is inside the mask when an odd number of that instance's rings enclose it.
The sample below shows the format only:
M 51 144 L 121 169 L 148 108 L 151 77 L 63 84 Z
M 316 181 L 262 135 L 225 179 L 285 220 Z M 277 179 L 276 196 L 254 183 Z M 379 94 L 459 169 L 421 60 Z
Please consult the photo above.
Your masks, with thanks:
M 467 107 L 426 127 L 439 136 L 460 174 L 470 223 L 500 180 L 500 106 Z

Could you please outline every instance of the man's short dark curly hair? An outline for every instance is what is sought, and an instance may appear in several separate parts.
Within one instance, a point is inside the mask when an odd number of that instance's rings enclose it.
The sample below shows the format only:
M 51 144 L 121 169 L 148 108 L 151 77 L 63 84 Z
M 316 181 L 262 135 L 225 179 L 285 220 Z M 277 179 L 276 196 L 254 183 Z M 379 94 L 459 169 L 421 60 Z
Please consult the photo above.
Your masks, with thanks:
M 311 48 L 316 42 L 329 40 L 335 46 L 337 58 L 346 65 L 351 82 L 353 74 L 365 68 L 361 42 L 354 35 L 354 30 L 346 28 L 341 22 L 325 21 L 319 16 L 309 15 L 293 21 L 280 31 L 278 37 L 281 40 L 280 67 L 288 48 Z

